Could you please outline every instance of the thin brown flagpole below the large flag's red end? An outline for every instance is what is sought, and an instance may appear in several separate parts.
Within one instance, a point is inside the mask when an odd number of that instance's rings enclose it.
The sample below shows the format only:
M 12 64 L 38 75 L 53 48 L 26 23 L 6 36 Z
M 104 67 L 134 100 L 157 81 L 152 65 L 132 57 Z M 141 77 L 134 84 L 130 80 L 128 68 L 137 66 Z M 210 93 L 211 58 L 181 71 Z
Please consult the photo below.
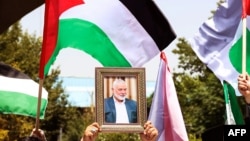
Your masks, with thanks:
M 40 120 L 40 109 L 41 109 L 41 99 L 42 99 L 42 86 L 43 79 L 39 80 L 39 90 L 38 90 L 38 100 L 37 100 L 37 113 L 36 113 L 36 131 L 39 129 L 39 120 Z

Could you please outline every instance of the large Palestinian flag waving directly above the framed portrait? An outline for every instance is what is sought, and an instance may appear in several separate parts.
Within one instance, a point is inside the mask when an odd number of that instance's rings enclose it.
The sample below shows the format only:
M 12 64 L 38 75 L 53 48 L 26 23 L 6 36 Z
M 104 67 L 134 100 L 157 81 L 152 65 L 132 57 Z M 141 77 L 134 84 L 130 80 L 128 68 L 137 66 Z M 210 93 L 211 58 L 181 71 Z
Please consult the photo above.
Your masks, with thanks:
M 176 35 L 151 0 L 46 0 L 40 78 L 65 48 L 107 67 L 140 67 Z

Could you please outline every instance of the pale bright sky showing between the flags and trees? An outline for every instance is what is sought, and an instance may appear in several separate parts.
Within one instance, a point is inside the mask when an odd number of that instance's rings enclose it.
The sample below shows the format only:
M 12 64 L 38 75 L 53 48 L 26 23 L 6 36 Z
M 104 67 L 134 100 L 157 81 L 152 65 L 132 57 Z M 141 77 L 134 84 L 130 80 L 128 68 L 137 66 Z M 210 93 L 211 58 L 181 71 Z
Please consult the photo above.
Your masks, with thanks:
M 172 50 L 176 47 L 177 39 L 180 37 L 185 37 L 186 39 L 192 37 L 198 31 L 199 26 L 212 16 L 211 11 L 216 10 L 218 0 L 155 0 L 155 2 L 177 34 L 176 40 L 164 50 L 170 69 L 176 70 L 178 58 L 172 53 Z M 21 24 L 23 30 L 42 36 L 43 18 L 44 5 L 22 18 Z M 80 62 L 80 65 L 76 62 Z M 159 62 L 160 56 L 156 56 L 143 66 L 146 68 L 146 80 L 148 82 L 156 81 Z M 101 67 L 101 64 L 87 54 L 74 50 L 66 50 L 59 54 L 54 66 L 60 66 L 62 77 L 70 77 L 72 74 L 77 74 L 93 80 L 95 67 Z M 79 83 L 81 84 L 82 82 Z M 68 92 L 72 94 L 69 98 L 73 104 L 79 105 L 80 103 L 81 106 L 84 106 L 84 104 L 91 102 L 89 94 L 86 94 L 89 93 L 88 91 L 83 97 L 78 97 L 79 94 L 77 94 L 77 91 L 82 91 L 80 88 L 82 85 L 78 86 L 78 84 L 74 84 L 76 87 L 71 87 L 71 85 L 72 83 L 64 84 L 68 88 Z M 147 87 L 151 89 L 153 86 Z M 70 89 L 74 89 L 73 91 L 75 92 L 70 91 Z M 82 101 L 85 101 L 85 103 L 82 103 Z

